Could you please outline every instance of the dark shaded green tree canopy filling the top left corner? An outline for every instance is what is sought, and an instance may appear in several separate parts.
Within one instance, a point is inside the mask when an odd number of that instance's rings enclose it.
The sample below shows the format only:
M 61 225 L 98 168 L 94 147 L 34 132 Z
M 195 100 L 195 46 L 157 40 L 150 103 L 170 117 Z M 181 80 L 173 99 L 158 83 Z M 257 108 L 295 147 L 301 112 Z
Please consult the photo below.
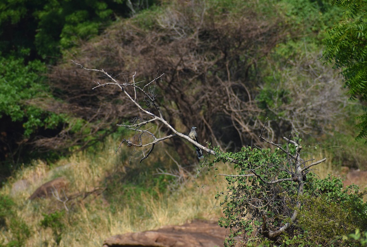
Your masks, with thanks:
M 133 6 L 130 8 L 134 10 Z M 58 57 L 60 48 L 68 49 L 79 40 L 97 35 L 116 16 L 131 14 L 130 8 L 126 0 L 2 1 L 1 55 L 29 56 L 30 60 Z

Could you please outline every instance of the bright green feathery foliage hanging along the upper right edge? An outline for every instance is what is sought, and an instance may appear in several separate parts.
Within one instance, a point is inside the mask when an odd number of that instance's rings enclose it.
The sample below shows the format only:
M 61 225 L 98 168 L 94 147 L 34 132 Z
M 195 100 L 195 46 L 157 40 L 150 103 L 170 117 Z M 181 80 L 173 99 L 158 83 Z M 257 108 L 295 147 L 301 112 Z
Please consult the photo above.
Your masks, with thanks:
M 323 56 L 334 68 L 341 69 L 351 98 L 364 102 L 365 113 L 358 117 L 361 131 L 357 138 L 367 138 L 367 4 L 346 0 L 333 3 L 345 7 L 346 11 L 344 19 L 333 26 L 323 40 Z

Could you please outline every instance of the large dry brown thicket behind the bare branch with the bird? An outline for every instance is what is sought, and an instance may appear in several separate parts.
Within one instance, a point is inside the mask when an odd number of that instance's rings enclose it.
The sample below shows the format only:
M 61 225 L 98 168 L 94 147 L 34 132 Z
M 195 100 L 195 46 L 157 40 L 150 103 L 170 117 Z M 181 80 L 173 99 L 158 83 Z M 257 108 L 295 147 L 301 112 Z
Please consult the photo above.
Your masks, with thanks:
M 187 130 L 196 126 L 200 140 L 214 144 L 258 142 L 255 130 L 262 122 L 254 104 L 257 63 L 284 40 L 287 31 L 285 26 L 279 28 L 280 17 L 270 21 L 251 10 L 216 11 L 200 1 L 178 1 L 156 20 L 150 19 L 149 29 L 139 25 L 138 18 L 122 21 L 95 42 L 83 44 L 73 58 L 85 67 L 103 68 L 121 81 L 135 71 L 137 78 L 149 81 L 159 70 L 165 77 L 155 91 L 170 123 Z M 103 120 L 95 129 L 135 117 L 134 107 L 119 91 L 91 90 L 93 85 L 85 82 L 97 76 L 60 64 L 50 78 L 55 93 L 68 103 L 66 111 L 86 120 Z M 239 122 L 236 114 L 247 116 L 248 122 Z

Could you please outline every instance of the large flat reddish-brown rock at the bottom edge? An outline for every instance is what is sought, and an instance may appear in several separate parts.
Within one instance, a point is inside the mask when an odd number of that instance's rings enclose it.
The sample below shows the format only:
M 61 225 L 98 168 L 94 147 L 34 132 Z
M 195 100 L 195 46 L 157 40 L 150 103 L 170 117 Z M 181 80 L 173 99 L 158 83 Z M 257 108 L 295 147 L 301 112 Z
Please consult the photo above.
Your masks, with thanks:
M 214 247 L 224 246 L 225 228 L 218 222 L 195 220 L 156 231 L 134 232 L 109 237 L 103 247 Z

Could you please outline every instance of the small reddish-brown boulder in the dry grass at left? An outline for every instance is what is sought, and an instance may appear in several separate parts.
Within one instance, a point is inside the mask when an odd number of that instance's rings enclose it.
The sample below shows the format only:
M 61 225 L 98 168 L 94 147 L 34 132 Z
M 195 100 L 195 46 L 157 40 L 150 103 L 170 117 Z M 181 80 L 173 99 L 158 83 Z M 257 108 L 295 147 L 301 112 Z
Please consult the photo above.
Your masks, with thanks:
M 36 191 L 29 197 L 29 200 L 33 200 L 35 198 L 47 198 L 52 197 L 52 191 L 57 191 L 59 196 L 63 196 L 63 191 L 66 192 L 66 188 L 68 186 L 68 181 L 65 177 L 58 177 L 57 179 L 48 181 L 47 183 L 42 184 Z

